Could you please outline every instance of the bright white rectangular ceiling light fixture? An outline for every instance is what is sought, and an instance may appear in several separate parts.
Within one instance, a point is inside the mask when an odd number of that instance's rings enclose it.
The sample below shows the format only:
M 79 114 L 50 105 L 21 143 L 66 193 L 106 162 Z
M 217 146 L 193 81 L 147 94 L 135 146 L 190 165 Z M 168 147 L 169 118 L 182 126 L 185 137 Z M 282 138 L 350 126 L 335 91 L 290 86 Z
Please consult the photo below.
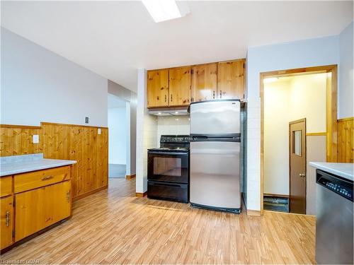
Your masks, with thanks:
M 182 8 L 176 0 L 142 0 L 156 23 L 174 18 L 181 18 L 188 13 L 188 8 Z M 183 4 L 183 3 L 181 3 Z

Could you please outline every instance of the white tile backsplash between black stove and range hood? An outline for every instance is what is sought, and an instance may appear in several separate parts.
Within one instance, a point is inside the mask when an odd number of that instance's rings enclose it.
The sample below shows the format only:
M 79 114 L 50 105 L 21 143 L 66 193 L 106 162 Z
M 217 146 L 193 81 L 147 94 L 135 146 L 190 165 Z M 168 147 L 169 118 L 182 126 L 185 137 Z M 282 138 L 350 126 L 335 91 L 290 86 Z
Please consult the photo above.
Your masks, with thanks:
M 189 134 L 189 116 L 157 117 L 157 142 L 162 134 Z

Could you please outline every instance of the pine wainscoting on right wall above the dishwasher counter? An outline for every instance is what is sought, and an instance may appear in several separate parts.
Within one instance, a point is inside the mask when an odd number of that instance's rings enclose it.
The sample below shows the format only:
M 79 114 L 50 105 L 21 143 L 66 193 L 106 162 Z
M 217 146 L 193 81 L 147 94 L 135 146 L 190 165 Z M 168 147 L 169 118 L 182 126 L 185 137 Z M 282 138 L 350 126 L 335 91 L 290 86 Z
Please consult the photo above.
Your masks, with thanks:
M 353 163 L 353 122 L 354 117 L 338 119 L 338 163 Z

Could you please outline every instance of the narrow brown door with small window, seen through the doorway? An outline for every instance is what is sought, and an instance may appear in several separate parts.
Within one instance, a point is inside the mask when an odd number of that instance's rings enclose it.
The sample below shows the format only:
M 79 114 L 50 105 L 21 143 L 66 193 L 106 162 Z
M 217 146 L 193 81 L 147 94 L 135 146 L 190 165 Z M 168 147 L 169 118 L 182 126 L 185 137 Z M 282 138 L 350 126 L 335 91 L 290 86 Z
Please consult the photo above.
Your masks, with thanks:
M 306 214 L 306 119 L 289 124 L 290 212 Z

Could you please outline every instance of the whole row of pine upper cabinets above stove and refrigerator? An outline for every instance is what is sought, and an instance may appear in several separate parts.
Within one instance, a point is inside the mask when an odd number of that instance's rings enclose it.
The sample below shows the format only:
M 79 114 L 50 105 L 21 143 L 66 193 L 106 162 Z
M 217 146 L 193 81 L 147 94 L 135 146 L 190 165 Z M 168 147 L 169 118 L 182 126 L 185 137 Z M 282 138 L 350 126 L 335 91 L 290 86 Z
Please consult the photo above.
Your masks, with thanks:
M 147 107 L 244 98 L 245 59 L 147 71 Z

